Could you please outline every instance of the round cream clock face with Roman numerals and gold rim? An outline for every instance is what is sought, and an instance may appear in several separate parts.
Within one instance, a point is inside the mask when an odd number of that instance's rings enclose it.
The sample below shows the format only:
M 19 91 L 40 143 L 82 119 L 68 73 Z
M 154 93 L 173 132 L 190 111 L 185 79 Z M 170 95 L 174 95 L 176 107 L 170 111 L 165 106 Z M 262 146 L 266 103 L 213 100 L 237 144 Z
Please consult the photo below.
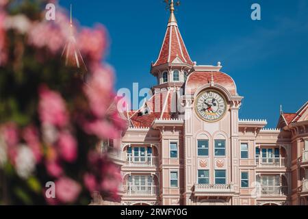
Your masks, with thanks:
M 196 99 L 196 113 L 206 122 L 214 123 L 222 119 L 226 109 L 224 97 L 214 90 L 205 90 Z

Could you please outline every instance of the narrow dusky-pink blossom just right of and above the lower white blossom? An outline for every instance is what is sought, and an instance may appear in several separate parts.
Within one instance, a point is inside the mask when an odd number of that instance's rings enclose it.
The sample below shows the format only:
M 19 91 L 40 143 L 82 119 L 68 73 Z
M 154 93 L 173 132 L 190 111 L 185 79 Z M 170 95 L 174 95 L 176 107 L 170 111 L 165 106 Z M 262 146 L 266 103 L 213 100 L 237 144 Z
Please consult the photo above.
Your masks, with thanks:
M 30 147 L 36 162 L 40 162 L 42 159 L 42 149 L 40 146 L 40 141 L 38 138 L 38 130 L 34 126 L 28 126 L 23 131 L 23 138 L 27 142 L 27 145 Z

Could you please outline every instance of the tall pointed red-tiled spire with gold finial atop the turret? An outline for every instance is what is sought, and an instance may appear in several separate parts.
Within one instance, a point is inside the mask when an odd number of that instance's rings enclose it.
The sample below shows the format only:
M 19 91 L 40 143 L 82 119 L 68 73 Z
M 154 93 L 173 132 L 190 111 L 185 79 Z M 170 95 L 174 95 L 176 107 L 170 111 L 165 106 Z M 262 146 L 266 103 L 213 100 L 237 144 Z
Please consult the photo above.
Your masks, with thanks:
M 183 38 L 180 34 L 179 27 L 177 25 L 177 19 L 175 18 L 175 6 L 179 6 L 179 2 L 174 3 L 173 0 L 165 0 L 168 4 L 167 8 L 170 10 L 170 18 L 162 48 L 159 51 L 157 61 L 152 65 L 160 66 L 162 64 L 172 63 L 177 59 L 177 63 L 190 64 L 192 60 L 185 47 Z

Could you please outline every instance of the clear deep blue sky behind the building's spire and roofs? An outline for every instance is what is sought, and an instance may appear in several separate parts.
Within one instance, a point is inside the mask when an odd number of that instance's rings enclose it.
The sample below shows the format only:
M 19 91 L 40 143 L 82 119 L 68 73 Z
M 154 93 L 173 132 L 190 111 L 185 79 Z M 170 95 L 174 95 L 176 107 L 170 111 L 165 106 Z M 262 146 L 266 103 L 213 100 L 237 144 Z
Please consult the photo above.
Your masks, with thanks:
M 65 8 L 70 3 L 81 25 L 107 27 L 116 89 L 156 83 L 149 70 L 169 16 L 162 0 L 60 0 Z M 261 21 L 251 20 L 253 3 L 261 5 Z M 176 17 L 192 60 L 220 61 L 235 80 L 244 96 L 240 118 L 265 118 L 275 127 L 280 105 L 296 112 L 308 101 L 307 0 L 182 0 Z

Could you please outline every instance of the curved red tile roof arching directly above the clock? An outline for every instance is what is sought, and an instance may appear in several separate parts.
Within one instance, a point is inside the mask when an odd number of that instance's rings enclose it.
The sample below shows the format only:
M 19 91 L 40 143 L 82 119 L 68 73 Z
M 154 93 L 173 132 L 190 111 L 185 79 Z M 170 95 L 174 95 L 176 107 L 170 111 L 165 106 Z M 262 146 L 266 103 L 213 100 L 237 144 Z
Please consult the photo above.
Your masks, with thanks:
M 186 83 L 186 90 L 188 90 L 188 94 L 194 94 L 198 88 L 204 86 L 207 83 L 211 82 L 211 72 L 193 72 L 188 77 L 188 81 Z M 235 96 L 236 93 L 236 86 L 233 79 L 222 72 L 214 72 L 213 73 L 214 83 L 218 83 L 229 92 Z

